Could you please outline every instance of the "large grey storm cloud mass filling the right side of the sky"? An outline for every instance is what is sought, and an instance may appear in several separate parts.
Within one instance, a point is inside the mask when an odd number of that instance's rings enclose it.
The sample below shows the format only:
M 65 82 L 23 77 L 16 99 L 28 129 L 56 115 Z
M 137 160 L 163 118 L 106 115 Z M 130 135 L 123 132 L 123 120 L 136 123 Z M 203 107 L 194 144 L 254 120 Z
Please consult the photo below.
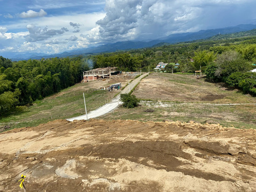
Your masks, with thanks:
M 247 24 L 256 19 L 251 0 L 109 0 L 89 41 L 159 38 Z M 96 36 L 97 35 L 97 36 Z

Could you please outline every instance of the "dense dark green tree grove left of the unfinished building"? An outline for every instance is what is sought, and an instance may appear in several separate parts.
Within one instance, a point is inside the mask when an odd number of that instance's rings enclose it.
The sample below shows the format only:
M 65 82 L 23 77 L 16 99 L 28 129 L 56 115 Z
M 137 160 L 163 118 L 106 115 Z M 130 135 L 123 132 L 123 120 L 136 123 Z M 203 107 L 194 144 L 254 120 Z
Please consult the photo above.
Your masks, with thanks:
M 0 114 L 73 86 L 86 70 L 81 57 L 12 62 L 0 56 Z

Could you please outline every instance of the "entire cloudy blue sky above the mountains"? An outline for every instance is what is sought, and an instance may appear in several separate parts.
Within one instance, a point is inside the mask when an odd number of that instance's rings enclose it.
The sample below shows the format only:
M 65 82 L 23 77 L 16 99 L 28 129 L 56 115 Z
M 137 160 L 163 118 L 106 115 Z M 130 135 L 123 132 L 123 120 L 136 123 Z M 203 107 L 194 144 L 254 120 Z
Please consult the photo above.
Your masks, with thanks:
M 256 24 L 255 0 L 0 0 L 0 55 Z

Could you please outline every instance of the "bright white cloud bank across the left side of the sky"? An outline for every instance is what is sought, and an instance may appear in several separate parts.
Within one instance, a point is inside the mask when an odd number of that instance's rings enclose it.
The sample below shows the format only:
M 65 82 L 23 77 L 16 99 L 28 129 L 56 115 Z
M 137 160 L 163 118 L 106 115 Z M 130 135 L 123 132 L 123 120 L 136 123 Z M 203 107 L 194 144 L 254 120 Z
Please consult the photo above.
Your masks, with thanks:
M 96 26 L 97 20 L 104 16 L 103 12 L 95 12 L 21 19 L 17 23 L 0 26 L 0 31 L 3 32 L 0 32 L 0 50 L 11 52 L 7 47 L 14 47 L 15 52 L 52 54 L 84 48 L 89 42 L 79 36 L 78 30 L 83 34 L 89 33 Z M 19 29 L 22 32 L 7 33 L 7 29 L 8 31 Z M 74 36 L 74 30 L 77 30 L 78 35 Z

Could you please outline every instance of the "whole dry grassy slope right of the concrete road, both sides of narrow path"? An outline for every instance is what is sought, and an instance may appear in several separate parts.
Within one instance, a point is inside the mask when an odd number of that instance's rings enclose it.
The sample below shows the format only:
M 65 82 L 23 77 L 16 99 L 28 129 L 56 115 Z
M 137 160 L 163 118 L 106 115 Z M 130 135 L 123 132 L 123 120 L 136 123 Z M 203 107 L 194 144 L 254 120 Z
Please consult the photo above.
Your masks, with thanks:
M 134 95 L 145 101 L 135 109 L 119 108 L 100 118 L 140 121 L 220 123 L 240 129 L 255 129 L 256 98 L 230 90 L 194 75 L 153 73 L 142 79 Z M 149 101 L 146 101 L 149 100 Z M 227 103 L 248 103 L 226 105 Z M 146 112 L 146 110 L 153 112 Z

